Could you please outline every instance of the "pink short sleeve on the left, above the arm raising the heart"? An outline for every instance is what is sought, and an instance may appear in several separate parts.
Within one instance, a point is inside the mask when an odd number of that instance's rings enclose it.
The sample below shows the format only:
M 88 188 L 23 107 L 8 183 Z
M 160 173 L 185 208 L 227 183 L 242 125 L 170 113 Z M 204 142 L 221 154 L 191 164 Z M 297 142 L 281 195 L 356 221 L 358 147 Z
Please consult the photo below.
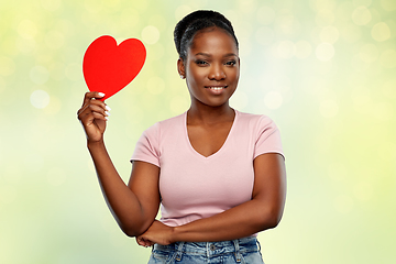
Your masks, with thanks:
M 131 162 L 141 161 L 160 166 L 160 123 L 155 123 L 143 132 L 139 139 Z

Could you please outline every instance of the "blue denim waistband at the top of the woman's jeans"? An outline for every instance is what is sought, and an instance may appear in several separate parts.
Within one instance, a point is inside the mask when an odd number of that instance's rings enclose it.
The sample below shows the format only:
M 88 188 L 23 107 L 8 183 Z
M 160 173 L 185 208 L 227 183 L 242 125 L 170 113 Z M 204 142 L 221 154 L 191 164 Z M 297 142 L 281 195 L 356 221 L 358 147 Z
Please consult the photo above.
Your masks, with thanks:
M 237 261 L 241 257 L 241 253 L 260 251 L 260 243 L 256 237 L 248 237 L 238 240 L 219 241 L 219 242 L 176 242 L 169 245 L 155 244 L 153 251 L 156 252 L 174 252 L 176 260 L 180 260 L 183 254 L 206 255 L 208 257 L 233 253 Z

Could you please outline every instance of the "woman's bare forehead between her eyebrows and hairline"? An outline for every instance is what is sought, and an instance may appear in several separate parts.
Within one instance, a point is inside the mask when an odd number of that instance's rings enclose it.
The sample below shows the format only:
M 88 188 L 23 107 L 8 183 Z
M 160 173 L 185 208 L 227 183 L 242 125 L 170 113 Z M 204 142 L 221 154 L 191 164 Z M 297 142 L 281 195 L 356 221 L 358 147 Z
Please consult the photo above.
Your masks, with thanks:
M 194 36 L 189 52 L 216 52 L 227 51 L 238 54 L 238 47 L 234 38 L 226 31 L 219 28 L 209 28 L 198 31 Z

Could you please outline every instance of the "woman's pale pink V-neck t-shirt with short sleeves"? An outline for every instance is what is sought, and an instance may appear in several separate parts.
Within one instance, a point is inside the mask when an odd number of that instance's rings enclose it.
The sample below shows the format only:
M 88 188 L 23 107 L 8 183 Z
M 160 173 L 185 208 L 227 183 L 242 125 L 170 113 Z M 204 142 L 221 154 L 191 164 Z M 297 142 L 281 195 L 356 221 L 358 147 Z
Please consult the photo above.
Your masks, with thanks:
M 264 153 L 283 155 L 279 131 L 266 116 L 235 110 L 224 144 L 208 157 L 191 146 L 186 118 L 187 112 L 148 128 L 131 158 L 161 168 L 161 221 L 170 227 L 208 218 L 251 200 L 253 160 Z

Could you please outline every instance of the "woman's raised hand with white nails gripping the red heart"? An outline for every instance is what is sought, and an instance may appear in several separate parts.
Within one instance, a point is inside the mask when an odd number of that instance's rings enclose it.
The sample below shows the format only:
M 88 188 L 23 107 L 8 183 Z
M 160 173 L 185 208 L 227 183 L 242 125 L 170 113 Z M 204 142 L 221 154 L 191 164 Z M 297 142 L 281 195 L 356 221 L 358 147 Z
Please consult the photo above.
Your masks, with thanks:
M 77 111 L 77 117 L 81 122 L 88 142 L 99 142 L 103 139 L 106 122 L 110 116 L 110 108 L 102 101 L 102 92 L 90 91 L 84 97 L 82 107 Z

